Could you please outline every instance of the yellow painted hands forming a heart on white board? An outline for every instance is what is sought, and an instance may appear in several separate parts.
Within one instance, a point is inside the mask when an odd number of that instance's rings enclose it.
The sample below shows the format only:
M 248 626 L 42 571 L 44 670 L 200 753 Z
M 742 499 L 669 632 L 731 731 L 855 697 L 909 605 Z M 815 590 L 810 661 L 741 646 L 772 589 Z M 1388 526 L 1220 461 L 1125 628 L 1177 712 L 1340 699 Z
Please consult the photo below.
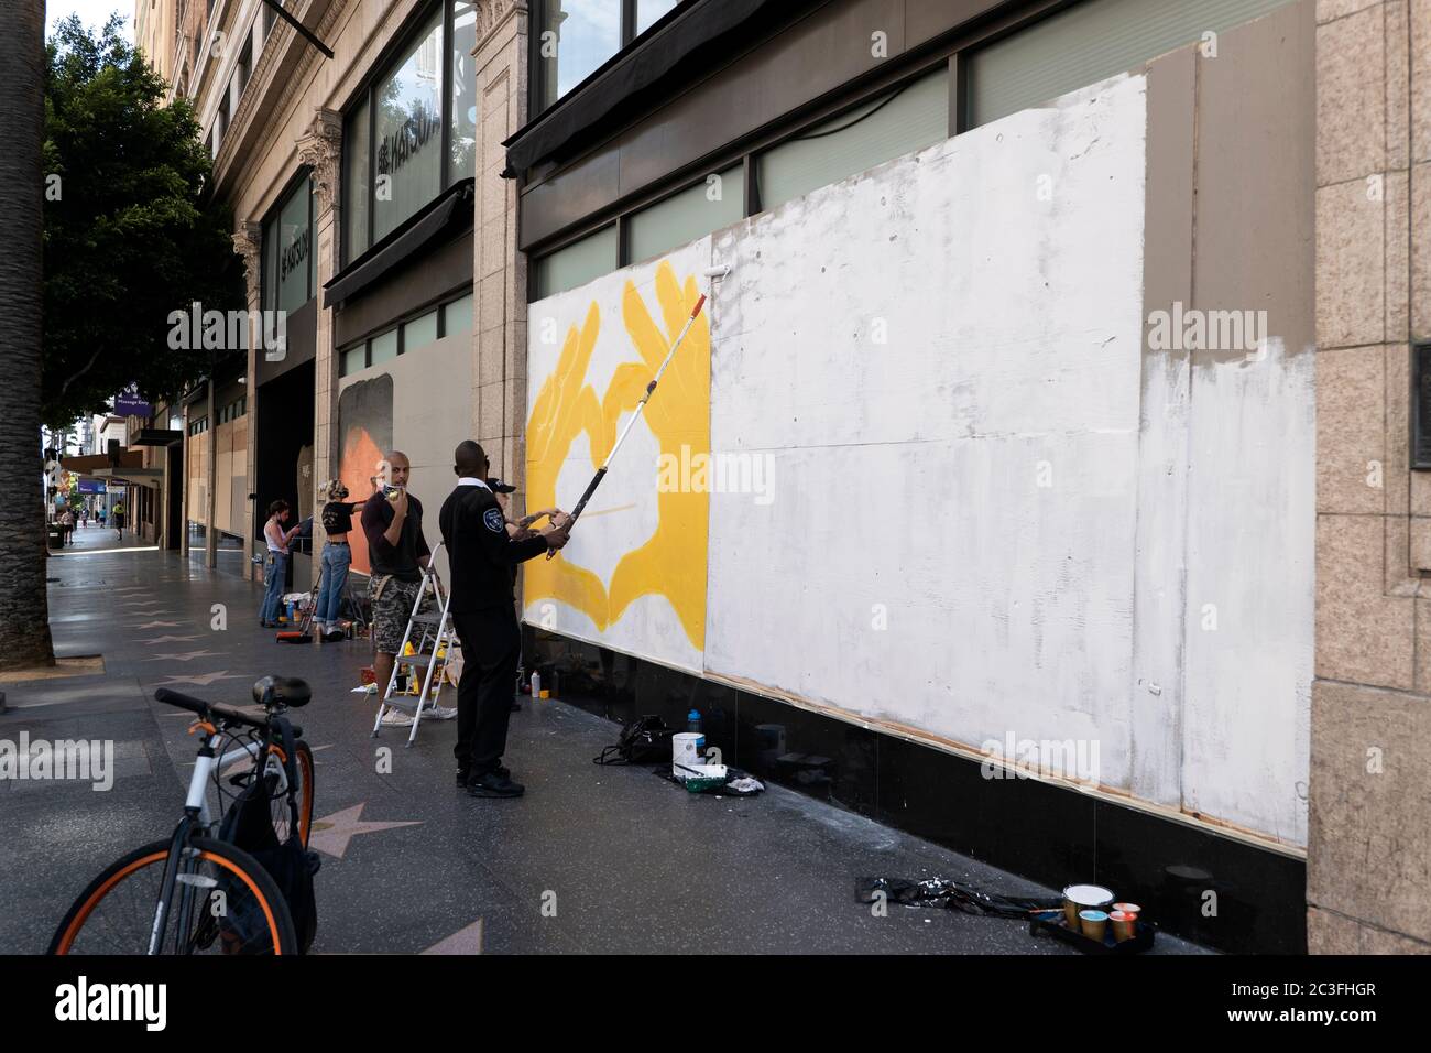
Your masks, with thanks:
M 694 275 L 687 275 L 683 285 L 670 262 L 663 261 L 655 271 L 657 319 L 651 317 L 635 284 L 627 282 L 621 297 L 621 317 L 634 354 L 631 360 L 617 365 L 611 384 L 600 400 L 587 384 L 587 370 L 601 330 L 600 305 L 592 301 L 581 327 L 571 327 L 557 368 L 542 381 L 527 421 L 528 507 L 557 504 L 557 477 L 572 441 L 582 431 L 591 446 L 591 466 L 581 466 L 582 483 L 601 466 L 615 444 L 622 417 L 635 410 L 671 341 L 690 318 L 698 295 Z M 670 454 L 680 458 L 683 446 L 691 456 L 710 451 L 710 325 L 703 312 L 643 413 L 663 457 Z M 637 460 L 622 463 L 622 457 L 630 457 L 630 451 L 618 454 L 611 467 L 612 474 L 641 473 L 650 479 L 653 491 L 658 489 L 654 464 Z M 595 500 L 600 501 L 600 497 Z M 567 553 L 550 562 L 531 560 L 525 564 L 527 605 L 557 599 L 581 610 L 595 622 L 597 629 L 605 630 L 641 596 L 665 596 L 675 609 L 687 639 L 697 650 L 704 650 L 710 494 L 704 490 L 671 490 L 657 493 L 655 500 L 655 533 L 621 556 L 610 582 L 575 566 Z M 588 506 L 587 514 L 592 511 L 600 511 L 600 507 Z M 580 533 L 578 523 L 574 536 Z

